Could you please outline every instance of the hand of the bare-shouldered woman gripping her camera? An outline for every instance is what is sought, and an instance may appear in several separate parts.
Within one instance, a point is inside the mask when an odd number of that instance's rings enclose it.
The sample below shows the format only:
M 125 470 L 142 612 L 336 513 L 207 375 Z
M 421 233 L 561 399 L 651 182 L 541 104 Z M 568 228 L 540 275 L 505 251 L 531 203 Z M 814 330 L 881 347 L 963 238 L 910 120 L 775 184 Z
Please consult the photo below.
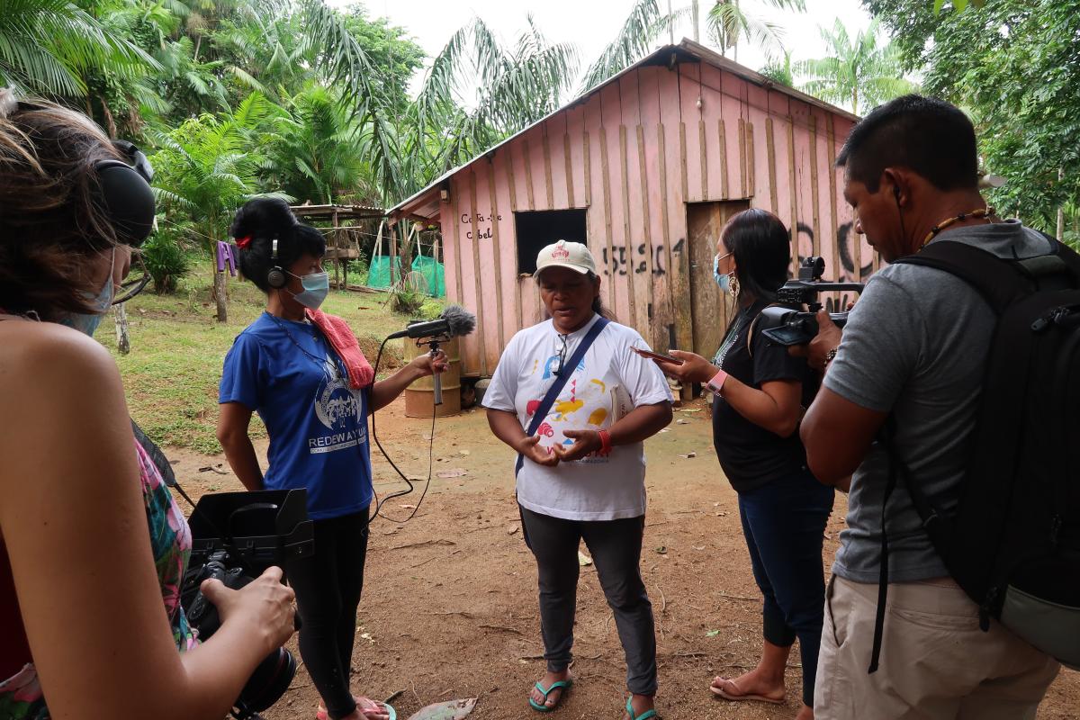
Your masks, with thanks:
M 239 590 L 226 587 L 220 580 L 204 581 L 199 589 L 217 608 L 222 625 L 243 619 L 258 628 L 269 653 L 285 644 L 295 630 L 296 593 L 282 585 L 281 579 L 281 568 L 267 568 Z

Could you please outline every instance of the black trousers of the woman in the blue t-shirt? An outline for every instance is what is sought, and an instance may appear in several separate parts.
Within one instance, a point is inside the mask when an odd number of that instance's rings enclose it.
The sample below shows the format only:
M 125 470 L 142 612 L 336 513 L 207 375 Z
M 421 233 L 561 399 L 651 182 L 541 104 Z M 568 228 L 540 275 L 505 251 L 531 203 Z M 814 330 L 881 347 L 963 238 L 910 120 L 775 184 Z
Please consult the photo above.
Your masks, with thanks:
M 364 587 L 367 513 L 313 520 L 315 553 L 286 561 L 300 613 L 300 657 L 332 718 L 356 709 L 349 688 L 356 608 Z

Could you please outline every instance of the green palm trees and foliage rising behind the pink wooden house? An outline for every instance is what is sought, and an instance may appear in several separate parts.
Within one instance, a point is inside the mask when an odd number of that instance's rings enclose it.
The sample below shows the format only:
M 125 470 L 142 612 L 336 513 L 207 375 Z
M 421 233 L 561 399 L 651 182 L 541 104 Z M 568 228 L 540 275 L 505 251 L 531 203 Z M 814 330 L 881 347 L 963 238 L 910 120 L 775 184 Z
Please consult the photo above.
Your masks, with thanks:
M 0 0 L 0 83 L 77 107 L 151 154 L 166 232 L 148 259 L 162 289 L 185 271 L 166 245 L 214 252 L 253 195 L 395 204 L 688 28 L 737 60 L 757 47 L 773 81 L 855 112 L 923 76 L 975 118 L 987 168 L 1010 179 L 996 202 L 1050 230 L 1065 208 L 1064 230 L 1080 236 L 1080 0 L 865 1 L 895 42 L 877 22 L 853 37 L 837 22 L 825 56 L 800 62 L 764 12 L 805 0 L 633 0 L 581 70 L 577 47 L 531 18 L 509 42 L 472 18 L 426 63 L 405 29 L 359 3 Z M 216 285 L 221 318 L 225 295 Z

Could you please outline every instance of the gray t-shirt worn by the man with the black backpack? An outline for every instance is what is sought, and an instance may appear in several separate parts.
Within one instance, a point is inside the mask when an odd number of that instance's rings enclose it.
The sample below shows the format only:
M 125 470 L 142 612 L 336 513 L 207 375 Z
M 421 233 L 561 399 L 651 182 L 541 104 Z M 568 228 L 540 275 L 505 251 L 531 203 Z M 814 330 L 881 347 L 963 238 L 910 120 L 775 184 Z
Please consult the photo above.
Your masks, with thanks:
M 957 228 L 940 240 L 1008 258 L 1052 249 L 1045 237 L 1016 220 Z M 995 325 L 986 301 L 956 276 L 919 266 L 889 266 L 867 283 L 825 375 L 825 386 L 841 397 L 895 417 L 895 444 L 910 481 L 946 513 L 959 502 Z M 888 471 L 885 449 L 875 443 L 851 480 L 848 528 L 840 533 L 833 565 L 841 578 L 878 582 Z M 889 500 L 887 528 L 891 582 L 948 574 L 902 483 Z

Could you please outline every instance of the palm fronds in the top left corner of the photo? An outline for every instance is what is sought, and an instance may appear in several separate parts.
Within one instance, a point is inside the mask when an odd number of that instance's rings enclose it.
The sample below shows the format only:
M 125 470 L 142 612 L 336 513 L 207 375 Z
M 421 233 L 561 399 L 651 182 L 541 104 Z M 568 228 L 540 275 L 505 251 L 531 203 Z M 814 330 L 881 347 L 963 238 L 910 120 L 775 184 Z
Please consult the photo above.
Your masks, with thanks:
M 0 85 L 25 94 L 85 97 L 85 76 L 139 73 L 149 55 L 64 0 L 0 0 Z

